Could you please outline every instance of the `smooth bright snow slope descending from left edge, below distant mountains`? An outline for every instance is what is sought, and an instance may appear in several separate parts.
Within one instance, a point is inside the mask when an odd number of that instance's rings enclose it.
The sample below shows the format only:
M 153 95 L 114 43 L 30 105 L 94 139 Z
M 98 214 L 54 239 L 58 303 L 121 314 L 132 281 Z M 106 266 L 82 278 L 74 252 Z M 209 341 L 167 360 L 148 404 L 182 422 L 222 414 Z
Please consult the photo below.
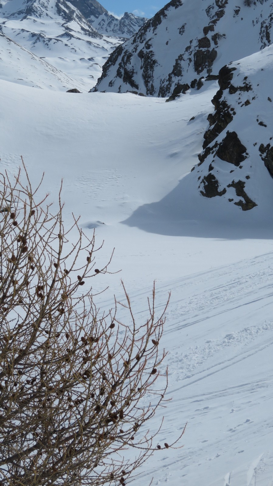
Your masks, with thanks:
M 66 91 L 85 86 L 0 32 L 0 79 L 25 86 Z

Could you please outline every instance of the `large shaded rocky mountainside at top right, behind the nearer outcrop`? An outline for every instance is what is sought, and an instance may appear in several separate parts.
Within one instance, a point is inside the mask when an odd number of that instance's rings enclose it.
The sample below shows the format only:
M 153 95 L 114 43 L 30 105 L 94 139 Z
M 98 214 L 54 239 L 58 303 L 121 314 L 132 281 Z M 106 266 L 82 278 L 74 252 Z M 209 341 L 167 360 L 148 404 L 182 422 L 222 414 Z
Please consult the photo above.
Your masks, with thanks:
M 219 69 L 268 46 L 272 0 L 172 0 L 112 52 L 95 89 L 167 97 L 200 89 Z

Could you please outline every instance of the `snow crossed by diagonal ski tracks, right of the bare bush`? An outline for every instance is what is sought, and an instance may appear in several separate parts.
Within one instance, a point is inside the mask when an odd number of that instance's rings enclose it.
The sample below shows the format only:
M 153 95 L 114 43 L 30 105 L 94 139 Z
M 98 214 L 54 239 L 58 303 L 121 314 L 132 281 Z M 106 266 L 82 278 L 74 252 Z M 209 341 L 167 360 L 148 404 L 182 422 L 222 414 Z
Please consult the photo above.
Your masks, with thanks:
M 153 475 L 156 485 L 273 485 L 272 284 L 272 252 L 169 282 L 165 340 L 173 400 L 159 443 L 179 432 L 171 417 L 188 425 L 184 448 L 173 459 L 155 459 L 154 467 L 147 463 L 141 478 Z M 132 302 L 140 297 L 132 295 Z M 233 469 L 223 473 L 228 464 Z

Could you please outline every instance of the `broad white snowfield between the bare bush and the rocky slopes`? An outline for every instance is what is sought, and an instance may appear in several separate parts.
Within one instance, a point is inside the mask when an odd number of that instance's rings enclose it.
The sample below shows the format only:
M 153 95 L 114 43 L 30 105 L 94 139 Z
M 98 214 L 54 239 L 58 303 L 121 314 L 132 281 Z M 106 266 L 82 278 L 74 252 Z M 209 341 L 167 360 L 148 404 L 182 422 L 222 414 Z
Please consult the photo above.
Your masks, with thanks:
M 111 269 L 122 271 L 93 282 L 109 286 L 101 308 L 122 298 L 120 278 L 139 319 L 153 279 L 158 311 L 172 292 L 162 342 L 172 401 L 158 440 L 187 422 L 184 447 L 158 451 L 135 485 L 273 486 L 273 179 L 253 160 L 266 182 L 244 212 L 192 192 L 217 89 L 165 103 L 0 81 L 1 170 L 16 172 L 22 155 L 55 202 L 63 178 L 65 222 L 81 214 L 105 240 L 98 266 L 115 247 Z

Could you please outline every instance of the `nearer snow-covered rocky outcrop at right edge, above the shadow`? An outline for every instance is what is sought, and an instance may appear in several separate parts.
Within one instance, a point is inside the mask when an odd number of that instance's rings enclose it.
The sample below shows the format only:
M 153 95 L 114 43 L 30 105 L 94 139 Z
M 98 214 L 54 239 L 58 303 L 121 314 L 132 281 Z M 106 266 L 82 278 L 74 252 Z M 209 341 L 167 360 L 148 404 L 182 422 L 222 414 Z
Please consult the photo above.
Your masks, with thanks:
M 203 196 L 249 210 L 272 182 L 272 77 L 273 46 L 220 69 L 215 111 L 192 173 Z

